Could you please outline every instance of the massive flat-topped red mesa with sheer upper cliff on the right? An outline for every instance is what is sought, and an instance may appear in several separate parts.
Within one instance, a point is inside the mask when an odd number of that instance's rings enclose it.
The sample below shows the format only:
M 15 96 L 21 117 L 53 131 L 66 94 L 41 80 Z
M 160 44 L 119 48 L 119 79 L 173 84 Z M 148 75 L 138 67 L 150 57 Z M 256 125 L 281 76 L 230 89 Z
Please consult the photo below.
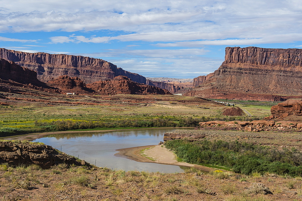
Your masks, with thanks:
M 214 73 L 195 78 L 185 95 L 217 99 L 284 101 L 302 97 L 302 49 L 227 47 Z

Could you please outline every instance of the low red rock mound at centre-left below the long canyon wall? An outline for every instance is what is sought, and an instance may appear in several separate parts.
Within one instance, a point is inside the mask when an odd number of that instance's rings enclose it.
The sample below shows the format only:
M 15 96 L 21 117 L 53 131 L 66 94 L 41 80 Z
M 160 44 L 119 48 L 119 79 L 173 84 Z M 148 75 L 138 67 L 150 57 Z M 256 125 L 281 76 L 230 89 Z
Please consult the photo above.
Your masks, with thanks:
M 87 87 L 94 90 L 97 94 L 115 95 L 115 94 L 171 94 L 168 90 L 163 90 L 156 86 L 150 86 L 133 82 L 125 76 L 117 76 L 114 79 L 104 79 Z

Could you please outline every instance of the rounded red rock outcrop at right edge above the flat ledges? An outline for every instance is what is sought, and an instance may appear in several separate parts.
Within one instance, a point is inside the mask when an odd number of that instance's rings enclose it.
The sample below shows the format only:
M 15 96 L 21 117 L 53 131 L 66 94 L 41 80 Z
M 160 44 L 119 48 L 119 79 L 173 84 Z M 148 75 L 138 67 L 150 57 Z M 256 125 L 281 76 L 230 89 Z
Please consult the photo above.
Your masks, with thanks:
M 271 107 L 271 116 L 273 118 L 285 118 L 289 115 L 302 116 L 302 99 L 289 99 Z M 302 117 L 301 117 L 302 119 Z

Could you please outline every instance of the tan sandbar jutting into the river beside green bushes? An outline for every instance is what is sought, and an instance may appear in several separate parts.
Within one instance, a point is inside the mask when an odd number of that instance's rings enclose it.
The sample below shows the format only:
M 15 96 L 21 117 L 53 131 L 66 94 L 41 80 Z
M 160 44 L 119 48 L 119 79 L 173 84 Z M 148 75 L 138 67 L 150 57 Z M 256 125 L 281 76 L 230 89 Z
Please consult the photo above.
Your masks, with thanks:
M 149 148 L 143 152 L 143 155 L 146 157 L 150 157 L 155 161 L 152 161 L 141 155 L 141 151 L 143 149 Z M 194 167 L 196 169 L 200 169 L 202 171 L 213 171 L 213 168 L 204 167 L 201 165 L 194 165 L 186 162 L 178 162 L 176 160 L 176 155 L 174 152 L 169 151 L 162 145 L 148 145 L 148 146 L 137 146 L 130 147 L 126 149 L 117 149 L 118 153 L 114 154 L 117 157 L 125 157 L 138 162 L 148 162 L 148 163 L 160 163 L 166 165 L 178 165 L 185 167 Z

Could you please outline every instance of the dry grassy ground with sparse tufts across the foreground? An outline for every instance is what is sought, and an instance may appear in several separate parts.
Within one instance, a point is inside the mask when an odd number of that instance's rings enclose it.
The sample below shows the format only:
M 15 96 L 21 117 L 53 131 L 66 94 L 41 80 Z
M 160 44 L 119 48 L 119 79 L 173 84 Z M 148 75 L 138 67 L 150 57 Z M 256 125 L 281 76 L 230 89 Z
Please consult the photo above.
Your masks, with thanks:
M 4 166 L 2 164 L 2 167 Z M 31 171 L 28 172 L 28 169 Z M 291 195 L 292 199 L 302 194 L 302 181 L 299 178 L 293 180 L 251 176 L 247 178 L 248 182 L 240 182 L 240 178 L 246 178 L 245 175 L 227 172 L 222 174 L 220 171 L 201 174 L 198 177 L 202 179 L 196 179 L 195 173 L 161 174 L 108 168 L 85 171 L 82 169 L 65 168 L 65 165 L 47 170 L 35 166 L 5 167 L 0 172 L 0 198 L 12 200 L 19 196 L 24 200 L 124 200 L 130 199 L 129 197 L 139 200 L 274 200 L 286 199 L 288 195 L 284 192 L 289 189 L 298 193 Z M 53 174 L 53 170 L 58 170 L 61 174 Z M 268 178 L 275 181 L 267 181 Z M 262 182 L 258 185 L 259 180 Z M 269 191 L 273 194 L 267 194 Z

